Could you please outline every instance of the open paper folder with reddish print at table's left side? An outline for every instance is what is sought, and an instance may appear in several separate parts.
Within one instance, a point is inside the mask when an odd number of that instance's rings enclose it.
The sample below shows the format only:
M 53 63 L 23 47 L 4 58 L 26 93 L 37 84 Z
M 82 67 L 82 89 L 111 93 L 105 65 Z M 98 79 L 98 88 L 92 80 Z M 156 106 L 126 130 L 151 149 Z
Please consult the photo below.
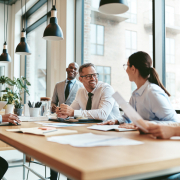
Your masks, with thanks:
M 75 130 L 68 130 L 68 129 L 42 130 L 42 129 L 38 129 L 38 128 L 39 127 L 6 129 L 6 131 L 9 131 L 9 132 L 22 132 L 22 133 L 28 133 L 28 134 L 41 135 L 41 136 L 53 136 L 53 135 L 58 135 L 58 134 L 77 133 L 77 131 L 75 131 Z

